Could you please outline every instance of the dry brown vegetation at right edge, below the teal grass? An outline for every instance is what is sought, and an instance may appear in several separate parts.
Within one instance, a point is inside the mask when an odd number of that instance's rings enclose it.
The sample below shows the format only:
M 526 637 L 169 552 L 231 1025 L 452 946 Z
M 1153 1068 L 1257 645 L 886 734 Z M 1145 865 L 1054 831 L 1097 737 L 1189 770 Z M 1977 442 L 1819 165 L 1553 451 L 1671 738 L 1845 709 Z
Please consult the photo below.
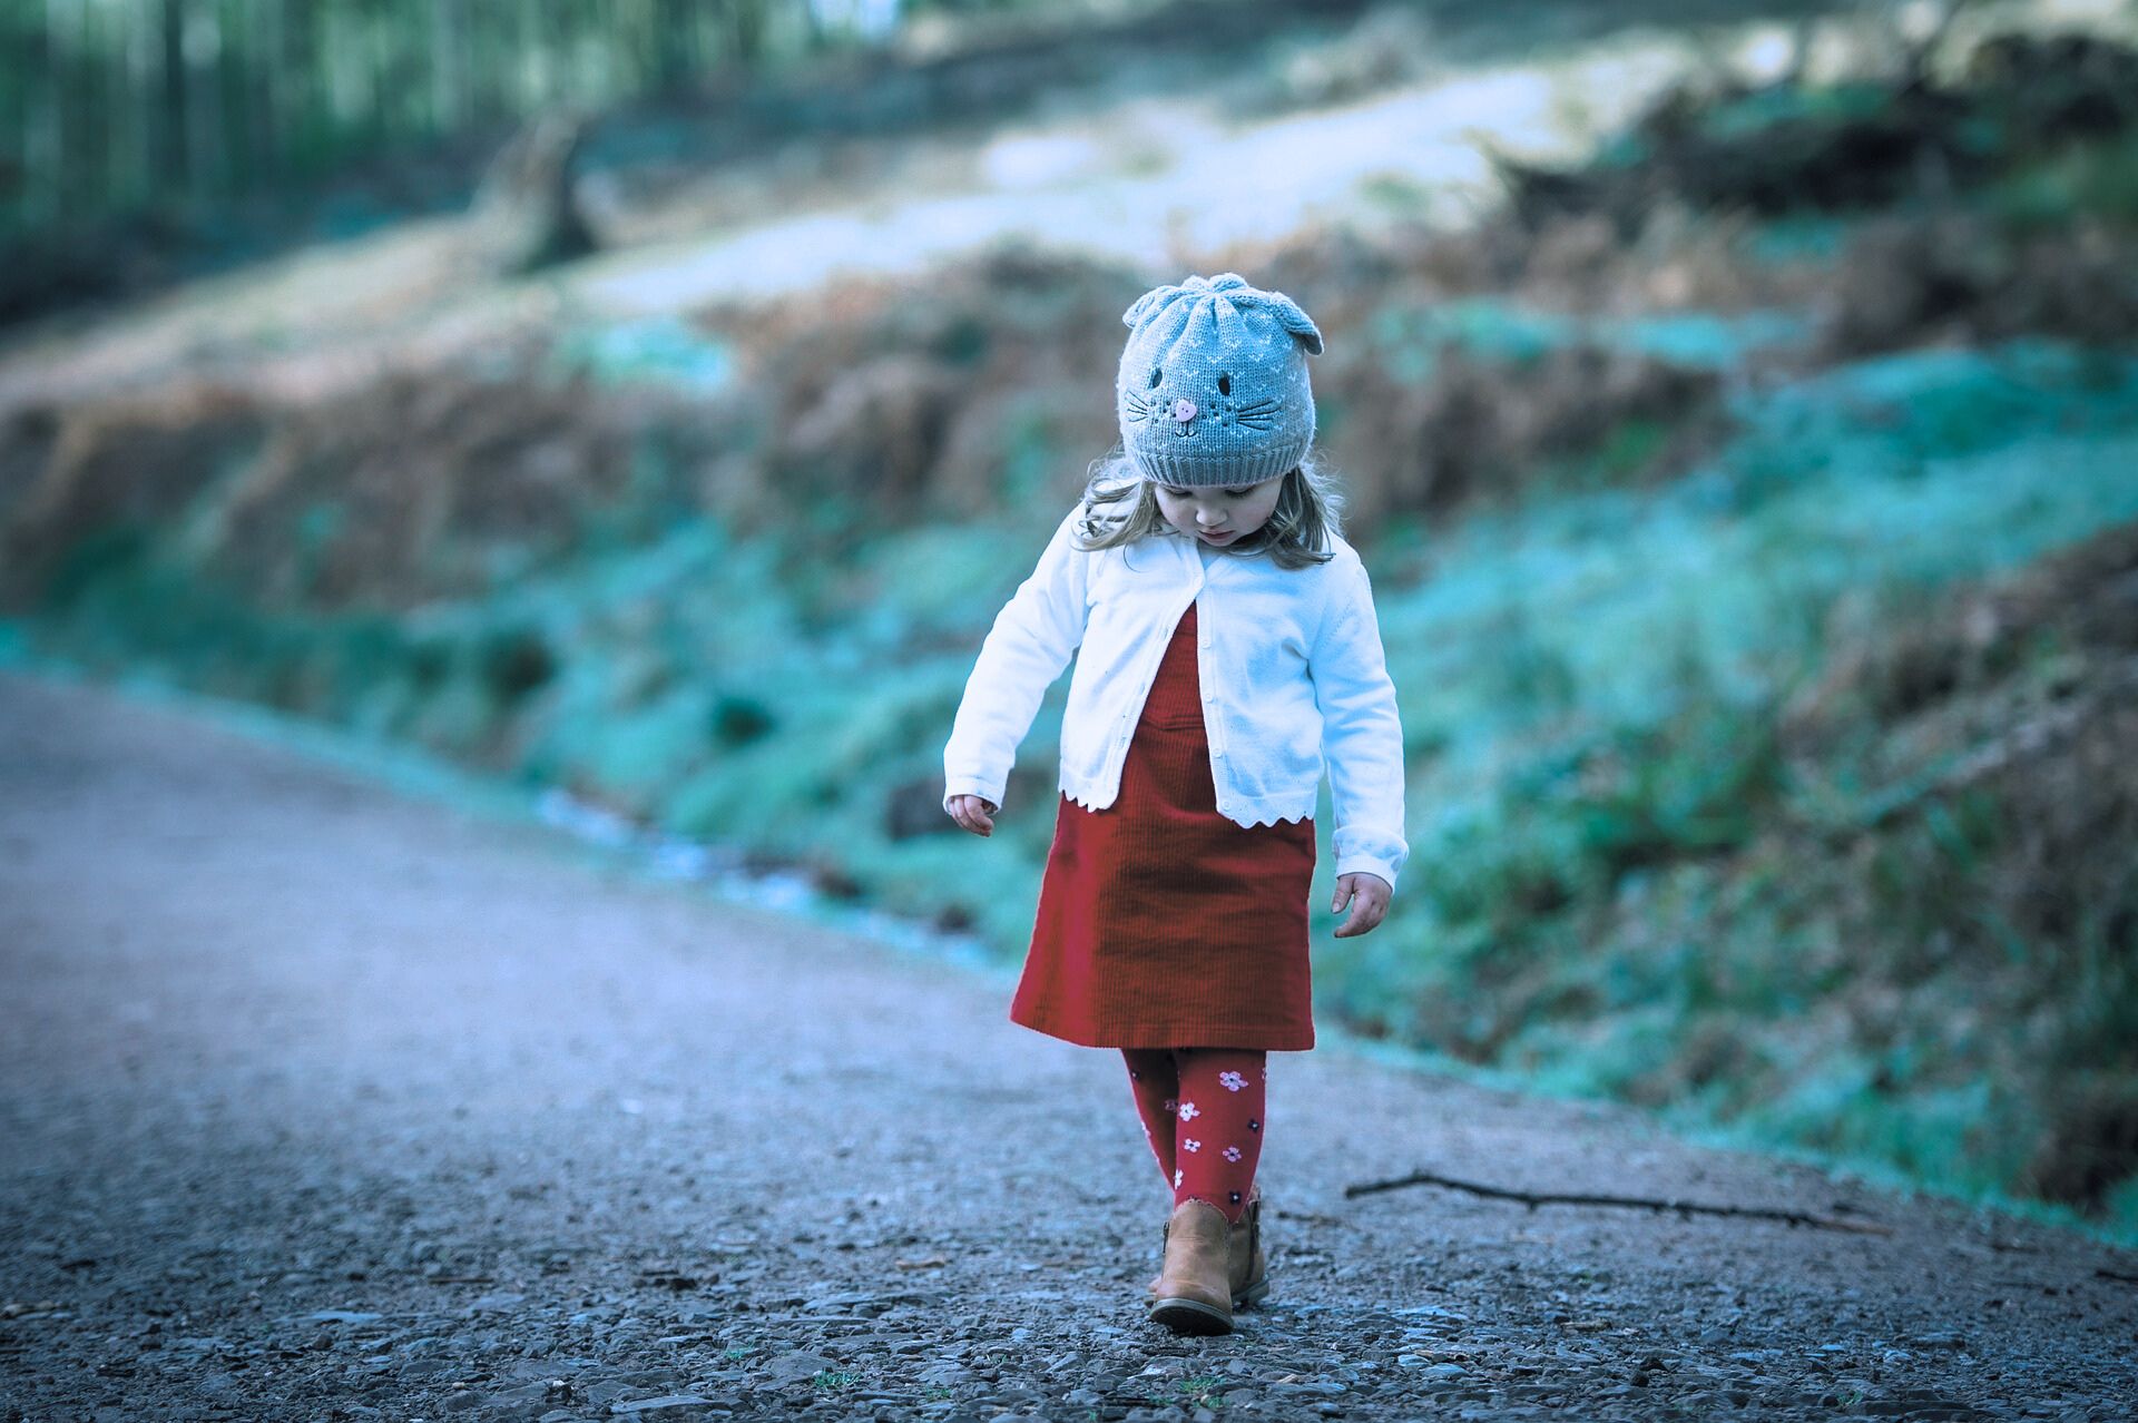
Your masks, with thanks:
M 2138 1173 L 2138 526 L 1834 641 L 1783 746 L 1822 780 L 1892 788 L 1869 823 L 1826 831 L 1834 951 L 1886 947 L 1839 1000 L 1852 1032 L 1896 1032 L 1909 996 L 1946 1004 L 1963 1038 L 2031 1023 L 1976 1070 L 2035 1083 L 2048 1109 L 2023 1188 L 2097 1207 Z M 1894 938 L 1896 912 L 1933 929 Z

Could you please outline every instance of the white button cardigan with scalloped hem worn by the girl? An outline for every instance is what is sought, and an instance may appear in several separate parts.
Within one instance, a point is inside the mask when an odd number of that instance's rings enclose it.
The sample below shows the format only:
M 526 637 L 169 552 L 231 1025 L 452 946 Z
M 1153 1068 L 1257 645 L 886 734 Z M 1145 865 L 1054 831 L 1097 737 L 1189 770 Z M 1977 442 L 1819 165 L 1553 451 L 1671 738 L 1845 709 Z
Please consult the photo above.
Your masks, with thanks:
M 1180 534 L 1114 549 L 1071 543 L 1069 511 L 1039 566 L 979 647 L 943 748 L 943 808 L 1003 803 L 1039 701 L 1078 654 L 1063 716 L 1060 788 L 1088 810 L 1120 793 L 1129 737 L 1174 626 L 1197 605 L 1197 675 L 1217 808 L 1238 825 L 1315 814 L 1328 752 L 1336 874 L 1396 882 L 1403 840 L 1403 726 L 1373 588 L 1358 553 L 1279 568 L 1266 556 L 1204 553 Z

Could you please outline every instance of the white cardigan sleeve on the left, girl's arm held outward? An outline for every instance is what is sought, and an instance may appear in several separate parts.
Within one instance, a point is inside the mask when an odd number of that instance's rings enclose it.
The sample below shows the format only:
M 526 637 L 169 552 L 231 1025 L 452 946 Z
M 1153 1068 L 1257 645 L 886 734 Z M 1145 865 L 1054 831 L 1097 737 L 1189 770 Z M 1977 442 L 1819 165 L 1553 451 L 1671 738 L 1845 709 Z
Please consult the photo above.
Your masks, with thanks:
M 1084 641 L 1090 553 L 1071 543 L 1082 513 L 1080 500 L 979 645 L 943 748 L 943 810 L 956 795 L 977 795 L 1001 808 L 1039 701 Z

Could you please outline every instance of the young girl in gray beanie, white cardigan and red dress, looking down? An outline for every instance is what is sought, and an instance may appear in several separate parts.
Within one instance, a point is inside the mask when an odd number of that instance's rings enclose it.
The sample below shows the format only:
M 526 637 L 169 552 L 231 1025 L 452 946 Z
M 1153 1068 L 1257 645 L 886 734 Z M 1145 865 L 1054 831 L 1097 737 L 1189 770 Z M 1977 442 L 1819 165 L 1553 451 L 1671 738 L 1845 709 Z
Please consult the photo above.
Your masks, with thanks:
M 1306 895 L 1323 767 L 1338 938 L 1388 912 L 1403 731 L 1366 570 L 1302 464 L 1315 434 L 1289 297 L 1189 278 L 1122 316 L 1122 453 L 1097 466 L 996 615 L 943 752 L 943 808 L 992 816 L 1078 654 L 1060 803 L 1009 1015 L 1118 1047 L 1172 1188 L 1150 1314 L 1225 1333 L 1268 1293 L 1255 1162 L 1266 1055 L 1313 1047 Z

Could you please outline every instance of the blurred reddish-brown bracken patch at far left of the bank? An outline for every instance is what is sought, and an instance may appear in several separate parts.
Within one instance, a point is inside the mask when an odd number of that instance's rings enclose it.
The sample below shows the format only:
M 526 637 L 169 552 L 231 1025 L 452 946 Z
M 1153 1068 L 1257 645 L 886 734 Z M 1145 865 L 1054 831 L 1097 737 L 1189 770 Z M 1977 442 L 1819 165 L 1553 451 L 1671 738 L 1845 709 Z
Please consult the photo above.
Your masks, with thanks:
M 618 498 L 641 408 L 432 372 L 319 404 L 190 389 L 17 417 L 9 462 L 38 468 L 6 511 L 6 592 L 34 598 L 68 551 L 154 530 L 261 605 L 479 594 L 500 556 L 558 553 Z

